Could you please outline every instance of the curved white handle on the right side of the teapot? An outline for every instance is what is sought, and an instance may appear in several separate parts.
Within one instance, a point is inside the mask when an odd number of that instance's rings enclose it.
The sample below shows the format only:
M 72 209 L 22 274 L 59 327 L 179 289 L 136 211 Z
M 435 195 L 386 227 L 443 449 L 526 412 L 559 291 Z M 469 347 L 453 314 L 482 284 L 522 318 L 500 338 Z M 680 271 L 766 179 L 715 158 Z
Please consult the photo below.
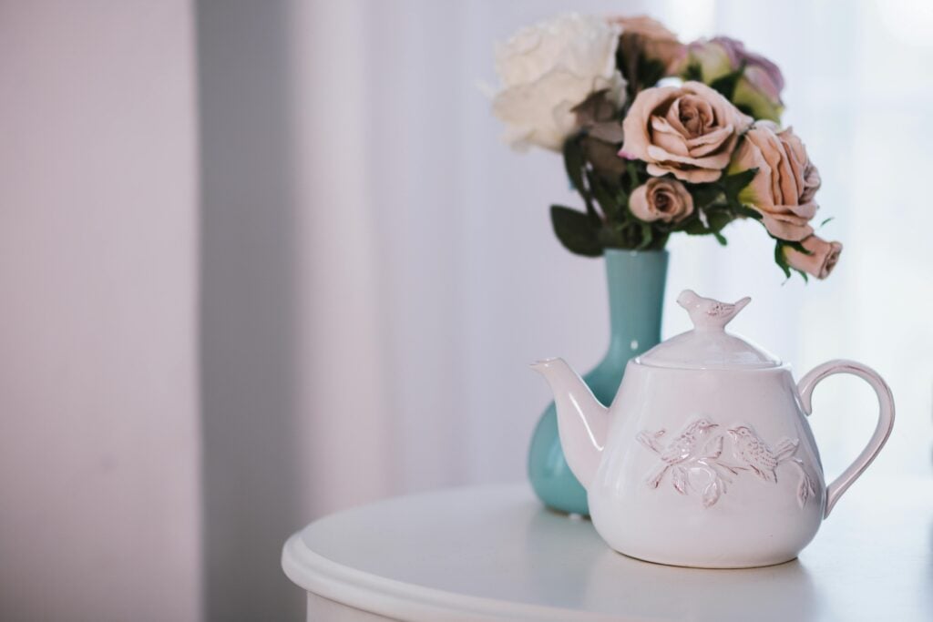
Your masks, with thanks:
M 815 386 L 820 380 L 828 378 L 833 374 L 852 374 L 862 380 L 865 380 L 875 390 L 878 395 L 878 405 L 881 407 L 878 413 L 878 425 L 875 426 L 874 434 L 871 435 L 869 444 L 858 454 L 855 462 L 850 464 L 847 469 L 842 471 L 842 475 L 835 480 L 826 489 L 826 511 L 823 518 L 829 517 L 832 506 L 836 505 L 842 493 L 845 492 L 853 482 L 869 467 L 871 461 L 875 459 L 887 437 L 891 435 L 891 428 L 894 426 L 894 396 L 887 383 L 882 380 L 878 373 L 869 366 L 864 366 L 855 361 L 835 360 L 828 361 L 823 365 L 816 366 L 809 374 L 801 378 L 797 387 L 801 393 L 801 406 L 803 412 L 810 414 L 813 412 L 811 397 Z

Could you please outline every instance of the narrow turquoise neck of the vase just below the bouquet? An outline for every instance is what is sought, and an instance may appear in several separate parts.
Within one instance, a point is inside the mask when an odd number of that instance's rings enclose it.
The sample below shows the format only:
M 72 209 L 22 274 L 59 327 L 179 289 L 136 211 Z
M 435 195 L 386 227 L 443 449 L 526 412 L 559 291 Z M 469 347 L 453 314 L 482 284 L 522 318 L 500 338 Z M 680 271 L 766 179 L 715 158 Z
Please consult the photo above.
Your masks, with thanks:
M 606 251 L 609 350 L 606 361 L 627 362 L 661 342 L 666 251 Z

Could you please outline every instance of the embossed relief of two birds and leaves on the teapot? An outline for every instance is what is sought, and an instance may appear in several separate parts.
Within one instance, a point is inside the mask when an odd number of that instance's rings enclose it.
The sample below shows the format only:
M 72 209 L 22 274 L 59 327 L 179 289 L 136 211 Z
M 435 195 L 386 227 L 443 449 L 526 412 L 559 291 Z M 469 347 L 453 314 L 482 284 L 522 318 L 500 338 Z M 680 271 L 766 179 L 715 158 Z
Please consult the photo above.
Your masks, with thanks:
M 735 462 L 722 455 L 726 437 L 731 440 Z M 671 484 L 681 494 L 698 492 L 703 506 L 715 505 L 731 484 L 732 476 L 750 471 L 766 482 L 777 483 L 777 467 L 792 464 L 800 474 L 797 502 L 803 507 L 816 494 L 816 484 L 800 458 L 795 458 L 798 439 L 782 438 L 773 447 L 755 433 L 751 425 L 738 424 L 725 430 L 702 417 L 690 422 L 680 434 L 668 439 L 665 430 L 638 433 L 638 442 L 658 454 L 660 463 L 648 473 L 646 483 L 658 488 L 670 473 Z

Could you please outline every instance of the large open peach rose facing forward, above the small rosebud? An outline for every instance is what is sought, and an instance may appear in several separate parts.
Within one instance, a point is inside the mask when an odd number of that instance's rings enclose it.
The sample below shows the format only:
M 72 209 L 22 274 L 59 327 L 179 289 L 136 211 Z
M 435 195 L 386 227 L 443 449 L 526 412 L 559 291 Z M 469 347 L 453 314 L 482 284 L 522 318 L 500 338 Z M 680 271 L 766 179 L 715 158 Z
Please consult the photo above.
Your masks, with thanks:
M 638 93 L 622 128 L 619 155 L 648 162 L 648 173 L 674 173 L 693 184 L 716 181 L 738 136 L 752 124 L 716 90 L 700 82 Z

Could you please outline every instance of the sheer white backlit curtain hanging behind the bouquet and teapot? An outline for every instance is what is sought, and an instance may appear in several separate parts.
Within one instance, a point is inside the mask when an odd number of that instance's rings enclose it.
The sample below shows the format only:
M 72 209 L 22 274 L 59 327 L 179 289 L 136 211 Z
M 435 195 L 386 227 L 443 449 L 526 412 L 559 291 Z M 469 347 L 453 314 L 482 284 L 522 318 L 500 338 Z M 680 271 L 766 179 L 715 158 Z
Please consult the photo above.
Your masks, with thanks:
M 677 292 L 753 305 L 734 330 L 799 375 L 826 359 L 875 366 L 902 414 L 875 473 L 926 473 L 933 347 L 926 318 L 933 47 L 922 3 L 578 2 L 648 11 L 681 35 L 725 34 L 778 62 L 786 123 L 823 175 L 823 234 L 845 244 L 826 282 L 785 283 L 754 223 L 720 248 L 675 239 L 665 335 L 688 325 Z M 372 2 L 303 7 L 299 243 L 309 323 L 304 408 L 313 512 L 441 485 L 521 479 L 548 401 L 527 363 L 580 370 L 606 345 L 601 262 L 567 254 L 547 207 L 575 200 L 559 156 L 512 153 L 477 84 L 494 41 L 561 2 Z M 307 33 L 307 35 L 301 35 Z M 857 380 L 829 380 L 814 425 L 831 473 L 874 425 Z M 358 449 L 356 449 L 358 448 Z

